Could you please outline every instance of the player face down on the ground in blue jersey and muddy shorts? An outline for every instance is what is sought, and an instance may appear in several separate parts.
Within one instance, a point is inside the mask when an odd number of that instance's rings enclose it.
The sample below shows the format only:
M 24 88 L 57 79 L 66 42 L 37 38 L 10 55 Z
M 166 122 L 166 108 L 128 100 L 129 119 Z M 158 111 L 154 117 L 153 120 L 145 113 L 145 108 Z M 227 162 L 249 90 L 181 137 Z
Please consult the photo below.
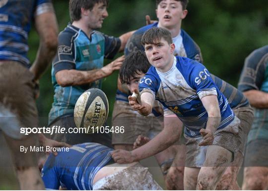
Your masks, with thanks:
M 138 162 L 118 164 L 113 149 L 82 143 L 50 155 L 42 169 L 46 189 L 58 190 L 162 190 L 147 168 Z

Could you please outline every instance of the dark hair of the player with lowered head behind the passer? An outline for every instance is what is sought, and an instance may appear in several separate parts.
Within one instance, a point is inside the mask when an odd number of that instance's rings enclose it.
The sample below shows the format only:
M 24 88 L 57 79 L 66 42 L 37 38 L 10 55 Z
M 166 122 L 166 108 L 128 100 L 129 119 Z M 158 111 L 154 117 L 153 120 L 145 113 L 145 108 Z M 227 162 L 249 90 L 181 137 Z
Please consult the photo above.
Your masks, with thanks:
M 140 73 L 146 73 L 151 64 L 149 63 L 144 51 L 137 50 L 130 53 L 120 68 L 119 76 L 122 83 L 129 83 L 131 77 L 135 78 Z

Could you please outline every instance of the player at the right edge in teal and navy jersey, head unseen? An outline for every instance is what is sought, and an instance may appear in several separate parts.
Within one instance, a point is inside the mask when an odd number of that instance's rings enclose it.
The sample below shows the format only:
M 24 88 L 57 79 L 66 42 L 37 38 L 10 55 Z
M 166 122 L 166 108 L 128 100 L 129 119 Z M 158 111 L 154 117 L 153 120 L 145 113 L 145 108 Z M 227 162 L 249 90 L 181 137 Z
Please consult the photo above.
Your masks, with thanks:
M 244 162 L 243 190 L 268 190 L 268 45 L 245 60 L 238 89 L 255 108 Z

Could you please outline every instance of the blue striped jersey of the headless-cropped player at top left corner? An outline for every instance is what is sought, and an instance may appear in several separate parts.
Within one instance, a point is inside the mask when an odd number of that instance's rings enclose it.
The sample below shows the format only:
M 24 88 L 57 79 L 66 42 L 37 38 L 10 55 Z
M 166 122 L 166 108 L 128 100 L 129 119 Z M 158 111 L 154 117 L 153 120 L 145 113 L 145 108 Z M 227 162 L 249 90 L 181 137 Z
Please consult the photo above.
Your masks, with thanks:
M 14 60 L 30 67 L 27 52 L 31 21 L 51 11 L 51 0 L 0 0 L 0 60 Z

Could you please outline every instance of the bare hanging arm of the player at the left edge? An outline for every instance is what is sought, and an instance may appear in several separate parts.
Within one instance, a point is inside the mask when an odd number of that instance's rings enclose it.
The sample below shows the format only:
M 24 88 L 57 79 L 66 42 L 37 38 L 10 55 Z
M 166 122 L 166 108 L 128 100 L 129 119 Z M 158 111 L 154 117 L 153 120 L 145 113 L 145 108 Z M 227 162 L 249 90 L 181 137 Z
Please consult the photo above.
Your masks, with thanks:
M 52 62 L 58 46 L 58 23 L 54 12 L 46 12 L 35 17 L 35 27 L 40 37 L 39 48 L 30 71 L 34 80 L 39 80 Z

